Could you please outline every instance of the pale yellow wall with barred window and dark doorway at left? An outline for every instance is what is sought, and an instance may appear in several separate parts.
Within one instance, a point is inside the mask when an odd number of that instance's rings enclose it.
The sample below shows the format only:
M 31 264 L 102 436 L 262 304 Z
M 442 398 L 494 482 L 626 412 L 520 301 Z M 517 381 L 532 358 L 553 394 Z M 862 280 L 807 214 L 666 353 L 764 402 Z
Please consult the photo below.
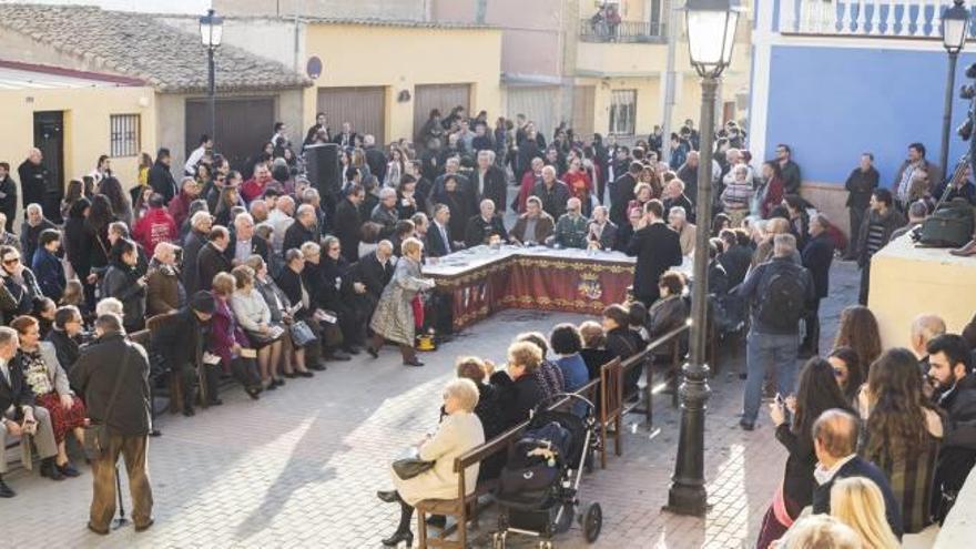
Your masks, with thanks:
M 33 146 L 33 113 L 37 111 L 64 112 L 65 184 L 90 173 L 99 155 L 109 153 L 109 116 L 112 114 L 140 114 L 140 152 L 155 155 L 154 102 L 151 88 L 0 91 L 0 120 L 9 130 L 0 132 L 0 159 L 10 163 L 17 179 L 17 166 Z M 112 169 L 123 186 L 135 182 L 138 164 L 138 156 L 112 159 Z

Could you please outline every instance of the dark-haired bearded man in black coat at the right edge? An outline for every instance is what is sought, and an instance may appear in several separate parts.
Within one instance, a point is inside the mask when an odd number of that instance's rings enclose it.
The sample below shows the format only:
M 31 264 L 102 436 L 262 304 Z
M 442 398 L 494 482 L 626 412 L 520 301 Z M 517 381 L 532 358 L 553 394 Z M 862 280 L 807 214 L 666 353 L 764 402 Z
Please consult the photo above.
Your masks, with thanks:
M 942 523 L 976 464 L 976 376 L 969 348 L 960 336 L 935 337 L 926 350 L 934 398 L 945 413 L 932 491 L 932 514 Z

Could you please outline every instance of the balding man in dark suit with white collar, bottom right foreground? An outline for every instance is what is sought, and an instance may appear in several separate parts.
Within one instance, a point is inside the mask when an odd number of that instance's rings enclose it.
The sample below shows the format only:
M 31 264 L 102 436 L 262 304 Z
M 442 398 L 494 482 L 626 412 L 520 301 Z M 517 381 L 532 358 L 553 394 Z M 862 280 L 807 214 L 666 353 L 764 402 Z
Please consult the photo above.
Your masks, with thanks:
M 813 476 L 817 487 L 813 492 L 813 512 L 830 515 L 831 488 L 842 478 L 863 477 L 874 482 L 885 500 L 885 517 L 892 531 L 902 537 L 902 506 L 895 500 L 891 485 L 876 465 L 857 455 L 857 431 L 860 423 L 852 414 L 841 409 L 830 409 L 821 414 L 813 424 L 813 447 L 816 453 L 816 469 Z

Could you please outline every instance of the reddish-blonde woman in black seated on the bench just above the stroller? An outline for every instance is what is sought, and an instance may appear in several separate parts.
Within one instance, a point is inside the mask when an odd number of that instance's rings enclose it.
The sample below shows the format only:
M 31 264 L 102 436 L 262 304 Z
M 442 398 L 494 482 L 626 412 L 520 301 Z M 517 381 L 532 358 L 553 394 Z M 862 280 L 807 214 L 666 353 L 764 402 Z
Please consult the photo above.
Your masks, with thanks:
M 505 370 L 491 374 L 491 385 L 498 392 L 506 429 L 528 419 L 529 411 L 545 397 L 536 380 L 536 372 L 541 364 L 542 350 L 538 345 L 516 342 L 508 347 Z

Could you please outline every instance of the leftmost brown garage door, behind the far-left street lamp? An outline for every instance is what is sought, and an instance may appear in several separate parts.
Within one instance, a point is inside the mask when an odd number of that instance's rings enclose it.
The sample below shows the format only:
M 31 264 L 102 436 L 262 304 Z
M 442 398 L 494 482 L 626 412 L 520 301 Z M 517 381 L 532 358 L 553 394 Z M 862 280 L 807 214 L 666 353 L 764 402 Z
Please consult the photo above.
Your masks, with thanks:
M 275 100 L 232 98 L 216 101 L 214 148 L 231 167 L 246 172 L 254 164 L 264 142 L 274 133 Z M 210 133 L 210 110 L 205 99 L 186 100 L 186 154 L 196 149 L 200 136 Z

